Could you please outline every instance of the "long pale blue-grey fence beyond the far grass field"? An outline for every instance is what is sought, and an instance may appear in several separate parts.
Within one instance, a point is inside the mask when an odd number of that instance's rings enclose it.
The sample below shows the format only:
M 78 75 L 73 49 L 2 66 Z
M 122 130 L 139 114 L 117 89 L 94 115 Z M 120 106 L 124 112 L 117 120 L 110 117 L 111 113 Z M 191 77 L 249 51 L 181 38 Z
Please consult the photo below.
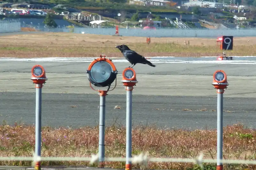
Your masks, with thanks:
M 71 25 L 71 24 L 70 24 Z M 37 31 L 44 32 L 73 32 L 99 35 L 115 35 L 116 29 L 113 28 L 81 28 L 75 26 L 68 28 L 67 25 L 58 24 L 57 28 L 47 28 L 40 23 L 25 23 L 17 19 L 0 21 L 0 33 L 19 32 L 21 27 L 33 27 Z M 175 28 L 158 28 L 155 30 L 143 30 L 141 28 L 119 28 L 119 35 L 122 36 L 144 36 L 144 37 L 218 37 L 229 35 L 235 37 L 256 36 L 255 28 L 246 29 L 175 29 Z

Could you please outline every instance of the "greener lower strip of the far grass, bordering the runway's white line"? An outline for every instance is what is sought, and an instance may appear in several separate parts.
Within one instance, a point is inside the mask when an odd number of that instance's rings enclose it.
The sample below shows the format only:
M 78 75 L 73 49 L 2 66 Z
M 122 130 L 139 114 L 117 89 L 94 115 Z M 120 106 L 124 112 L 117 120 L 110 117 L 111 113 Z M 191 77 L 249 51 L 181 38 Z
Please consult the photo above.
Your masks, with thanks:
M 121 44 L 120 44 L 121 45 Z M 145 57 L 176 56 L 176 57 L 201 57 L 220 56 L 222 51 L 216 46 L 181 45 L 175 43 L 127 43 L 129 48 Z M 44 45 L 3 45 L 0 47 L 1 57 L 97 57 L 105 54 L 108 57 L 122 56 L 115 45 L 82 46 L 57 44 Z M 253 56 L 256 54 L 256 45 L 240 45 L 234 50 L 227 51 L 227 56 Z

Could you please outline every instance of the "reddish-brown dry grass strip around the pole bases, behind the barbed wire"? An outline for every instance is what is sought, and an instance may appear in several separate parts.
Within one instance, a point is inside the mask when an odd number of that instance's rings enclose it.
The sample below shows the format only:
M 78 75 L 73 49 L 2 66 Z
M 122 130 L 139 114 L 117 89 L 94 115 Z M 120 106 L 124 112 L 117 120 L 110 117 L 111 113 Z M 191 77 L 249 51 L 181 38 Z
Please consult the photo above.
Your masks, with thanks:
M 25 125 L 0 126 L 0 156 L 32 156 L 35 147 L 35 127 Z M 105 134 L 106 157 L 125 157 L 125 128 L 108 127 Z M 194 158 L 204 153 L 204 158 L 216 159 L 215 130 L 156 129 L 134 127 L 132 131 L 132 155 L 148 152 L 150 157 Z M 98 152 L 98 127 L 78 129 L 42 128 L 42 156 L 91 156 Z M 236 124 L 224 128 L 224 159 L 250 159 L 256 157 L 256 130 Z M 46 165 L 88 165 L 89 162 L 42 162 Z M 0 161 L 0 165 L 31 166 L 28 161 Z M 205 164 L 207 169 L 216 165 Z M 124 168 L 125 162 L 107 162 L 106 166 Z M 151 169 L 197 169 L 192 163 L 151 163 Z M 133 165 L 140 168 L 139 165 Z M 231 169 L 256 169 L 250 165 L 226 165 Z

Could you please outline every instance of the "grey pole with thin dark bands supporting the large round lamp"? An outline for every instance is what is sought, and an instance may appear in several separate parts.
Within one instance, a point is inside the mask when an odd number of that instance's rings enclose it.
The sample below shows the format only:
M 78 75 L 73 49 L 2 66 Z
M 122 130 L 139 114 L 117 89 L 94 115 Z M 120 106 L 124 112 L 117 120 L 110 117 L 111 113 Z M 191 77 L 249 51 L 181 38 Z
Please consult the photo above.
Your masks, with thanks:
M 100 95 L 100 122 L 99 122 L 100 167 L 104 167 L 103 163 L 105 159 L 105 107 L 106 107 L 106 96 L 103 94 L 103 95 Z

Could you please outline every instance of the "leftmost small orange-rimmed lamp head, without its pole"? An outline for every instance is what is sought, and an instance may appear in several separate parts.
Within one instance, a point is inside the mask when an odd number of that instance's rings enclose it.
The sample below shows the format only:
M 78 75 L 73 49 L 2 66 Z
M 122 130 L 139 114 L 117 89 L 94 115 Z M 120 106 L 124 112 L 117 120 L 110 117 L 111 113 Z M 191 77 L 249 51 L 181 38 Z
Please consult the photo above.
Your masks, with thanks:
M 44 67 L 41 65 L 34 65 L 31 69 L 31 80 L 35 84 L 44 84 L 45 81 L 47 80 L 46 75 L 45 75 L 45 70 Z

